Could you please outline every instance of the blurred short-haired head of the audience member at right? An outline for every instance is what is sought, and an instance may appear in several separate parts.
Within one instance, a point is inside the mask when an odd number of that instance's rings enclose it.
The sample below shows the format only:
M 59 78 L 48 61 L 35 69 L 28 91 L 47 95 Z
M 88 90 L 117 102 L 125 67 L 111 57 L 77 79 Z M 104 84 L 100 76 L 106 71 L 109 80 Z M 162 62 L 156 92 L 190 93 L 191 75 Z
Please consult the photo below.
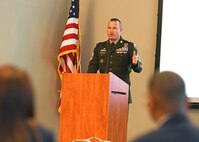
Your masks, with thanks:
M 176 73 L 156 73 L 149 81 L 148 91 L 148 108 L 154 121 L 165 114 L 185 112 L 188 104 L 185 83 Z

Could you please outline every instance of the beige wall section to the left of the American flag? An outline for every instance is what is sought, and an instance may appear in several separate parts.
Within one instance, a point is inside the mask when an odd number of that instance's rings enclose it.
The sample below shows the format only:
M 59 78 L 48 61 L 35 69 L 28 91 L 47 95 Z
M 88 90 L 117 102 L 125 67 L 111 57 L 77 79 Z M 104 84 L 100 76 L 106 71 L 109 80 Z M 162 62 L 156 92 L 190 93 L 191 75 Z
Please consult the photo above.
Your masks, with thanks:
M 36 94 L 36 117 L 57 135 L 56 54 L 69 1 L 0 0 L 0 3 L 0 64 L 15 64 L 29 72 Z

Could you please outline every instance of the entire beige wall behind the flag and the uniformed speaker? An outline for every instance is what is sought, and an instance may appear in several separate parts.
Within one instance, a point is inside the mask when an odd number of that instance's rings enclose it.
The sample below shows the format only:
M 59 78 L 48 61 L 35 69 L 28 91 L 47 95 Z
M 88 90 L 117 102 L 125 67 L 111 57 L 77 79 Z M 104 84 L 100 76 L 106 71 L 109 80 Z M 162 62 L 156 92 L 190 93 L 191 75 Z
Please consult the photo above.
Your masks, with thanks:
M 37 119 L 58 134 L 56 110 L 59 79 L 56 55 L 69 9 L 69 0 L 0 0 L 0 64 L 26 69 L 36 93 Z M 81 0 L 82 71 L 95 44 L 107 39 L 111 17 L 123 22 L 123 37 L 138 45 L 144 70 L 132 73 L 134 102 L 130 108 L 128 138 L 154 128 L 145 108 L 147 80 L 154 70 L 157 0 Z M 197 123 L 198 111 L 190 111 Z

